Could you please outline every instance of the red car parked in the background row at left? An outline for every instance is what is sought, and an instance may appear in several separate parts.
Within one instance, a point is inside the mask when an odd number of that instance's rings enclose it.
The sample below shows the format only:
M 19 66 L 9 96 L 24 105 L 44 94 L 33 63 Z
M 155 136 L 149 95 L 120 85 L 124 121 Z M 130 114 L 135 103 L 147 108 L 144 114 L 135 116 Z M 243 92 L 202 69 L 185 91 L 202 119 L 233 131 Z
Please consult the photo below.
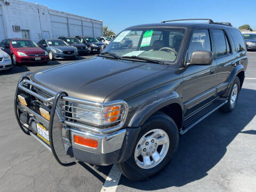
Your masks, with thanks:
M 29 39 L 4 39 L 0 46 L 11 56 L 13 65 L 49 61 L 48 53 Z

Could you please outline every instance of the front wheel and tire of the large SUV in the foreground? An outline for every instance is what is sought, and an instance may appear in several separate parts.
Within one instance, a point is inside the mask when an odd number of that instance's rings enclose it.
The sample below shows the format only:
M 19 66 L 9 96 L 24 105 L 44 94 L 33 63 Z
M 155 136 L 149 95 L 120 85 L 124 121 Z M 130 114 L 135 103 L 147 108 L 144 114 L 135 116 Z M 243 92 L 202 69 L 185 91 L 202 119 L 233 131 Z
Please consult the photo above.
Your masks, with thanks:
M 157 174 L 178 148 L 178 127 L 165 114 L 151 116 L 141 130 L 131 157 L 117 163 L 119 170 L 131 180 L 145 180 Z

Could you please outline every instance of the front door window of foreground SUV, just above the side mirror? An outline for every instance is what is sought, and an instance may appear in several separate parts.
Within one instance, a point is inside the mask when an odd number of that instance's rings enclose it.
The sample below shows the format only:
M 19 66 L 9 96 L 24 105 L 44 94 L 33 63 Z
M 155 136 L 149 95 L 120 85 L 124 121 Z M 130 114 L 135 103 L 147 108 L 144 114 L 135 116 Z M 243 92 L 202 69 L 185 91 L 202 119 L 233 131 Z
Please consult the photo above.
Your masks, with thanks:
M 188 47 L 187 61 L 194 51 L 211 51 L 209 31 L 207 29 L 195 30 Z

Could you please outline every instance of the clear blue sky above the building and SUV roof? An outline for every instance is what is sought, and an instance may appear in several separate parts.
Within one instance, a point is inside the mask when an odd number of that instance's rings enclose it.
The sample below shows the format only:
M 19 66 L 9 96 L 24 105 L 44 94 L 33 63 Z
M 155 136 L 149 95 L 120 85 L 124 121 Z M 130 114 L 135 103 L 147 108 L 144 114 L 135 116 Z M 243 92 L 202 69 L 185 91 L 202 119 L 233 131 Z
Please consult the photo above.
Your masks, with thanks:
M 216 22 L 231 22 L 235 27 L 249 24 L 256 28 L 255 0 L 26 0 L 47 5 L 50 9 L 103 21 L 116 34 L 126 27 L 163 20 L 210 18 Z

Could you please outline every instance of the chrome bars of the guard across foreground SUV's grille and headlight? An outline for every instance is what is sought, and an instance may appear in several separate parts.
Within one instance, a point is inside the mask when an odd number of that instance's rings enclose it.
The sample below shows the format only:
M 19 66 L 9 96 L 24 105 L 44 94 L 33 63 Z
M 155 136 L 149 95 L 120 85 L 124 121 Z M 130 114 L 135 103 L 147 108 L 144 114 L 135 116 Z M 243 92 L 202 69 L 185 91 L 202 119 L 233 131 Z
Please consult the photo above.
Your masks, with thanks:
M 23 86 L 25 84 L 29 85 L 29 89 L 27 87 Z M 42 94 L 36 93 L 33 90 L 31 90 L 31 87 L 36 87 L 37 89 L 42 90 L 42 91 L 46 92 L 49 95 L 52 95 L 52 97 L 45 97 Z M 65 119 L 65 117 L 63 118 L 63 116 L 60 115 L 60 111 L 58 110 L 58 108 L 56 108 L 54 110 L 55 113 L 57 113 L 61 124 L 65 124 L 65 125 L 70 126 L 70 127 L 75 127 L 75 129 L 78 129 L 80 131 L 85 130 L 85 131 L 90 131 L 90 132 L 93 132 L 93 133 L 106 134 L 106 133 L 114 132 L 114 131 L 117 131 L 117 130 L 121 129 L 124 125 L 125 120 L 126 120 L 128 105 L 123 100 L 101 103 L 101 102 L 87 101 L 87 100 L 83 100 L 83 99 L 68 97 L 67 93 L 65 93 L 66 95 L 61 94 L 61 97 L 57 97 L 57 95 L 58 95 L 57 92 L 52 91 L 50 89 L 47 89 L 46 87 L 44 87 L 42 85 L 39 85 L 39 84 L 37 84 L 33 81 L 30 81 L 27 78 L 21 79 L 21 81 L 18 84 L 18 89 L 20 89 L 24 92 L 27 92 L 27 93 L 33 95 L 34 97 L 36 97 L 37 99 L 43 101 L 44 105 L 46 107 L 52 106 L 53 102 L 55 100 L 77 102 L 77 103 L 82 103 L 84 105 L 90 105 L 90 106 L 95 106 L 95 107 L 110 107 L 110 106 L 114 106 L 114 105 L 122 105 L 124 107 L 124 113 L 122 113 L 122 116 L 121 116 L 122 121 L 120 121 L 119 124 L 107 127 L 106 129 L 99 129 L 97 127 L 92 127 L 92 126 L 88 126 L 88 125 L 84 125 L 84 124 L 80 124 L 80 123 L 76 123 L 76 122 L 67 121 Z M 18 92 L 18 89 L 17 89 L 17 92 Z M 16 97 L 17 97 L 17 95 L 16 95 Z M 57 101 L 57 103 L 58 103 L 58 101 Z M 38 115 L 41 116 L 40 114 L 38 114 Z M 50 119 L 50 121 L 51 121 L 51 119 Z

